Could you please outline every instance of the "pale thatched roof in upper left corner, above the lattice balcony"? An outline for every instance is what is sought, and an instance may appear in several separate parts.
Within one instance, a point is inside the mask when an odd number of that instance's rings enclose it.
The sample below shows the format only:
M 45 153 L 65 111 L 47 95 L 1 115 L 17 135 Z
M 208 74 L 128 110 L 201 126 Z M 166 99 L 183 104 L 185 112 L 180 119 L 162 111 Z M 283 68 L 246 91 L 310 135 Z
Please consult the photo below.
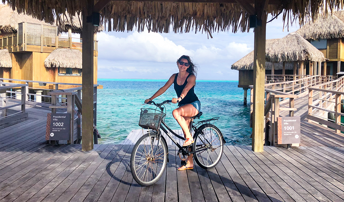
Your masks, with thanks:
M 18 23 L 30 22 L 36 24 L 45 24 L 43 21 L 33 18 L 30 15 L 19 14 L 13 11 L 8 4 L 0 5 L 0 33 L 11 33 L 18 30 Z

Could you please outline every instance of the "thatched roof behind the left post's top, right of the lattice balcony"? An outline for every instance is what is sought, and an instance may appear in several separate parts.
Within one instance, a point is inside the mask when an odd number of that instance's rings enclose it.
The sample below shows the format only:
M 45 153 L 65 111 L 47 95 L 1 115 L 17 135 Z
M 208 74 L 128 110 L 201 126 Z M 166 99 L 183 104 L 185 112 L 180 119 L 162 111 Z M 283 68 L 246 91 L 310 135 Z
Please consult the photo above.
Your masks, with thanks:
M 72 19 L 72 20 L 71 20 Z M 68 13 L 61 14 L 59 18 L 56 18 L 54 24 L 58 25 L 58 32 L 68 32 L 68 27 L 72 28 L 73 33 L 81 33 L 82 31 L 82 15 L 75 13 L 70 16 Z M 95 26 L 95 32 L 101 32 L 104 30 L 104 26 Z

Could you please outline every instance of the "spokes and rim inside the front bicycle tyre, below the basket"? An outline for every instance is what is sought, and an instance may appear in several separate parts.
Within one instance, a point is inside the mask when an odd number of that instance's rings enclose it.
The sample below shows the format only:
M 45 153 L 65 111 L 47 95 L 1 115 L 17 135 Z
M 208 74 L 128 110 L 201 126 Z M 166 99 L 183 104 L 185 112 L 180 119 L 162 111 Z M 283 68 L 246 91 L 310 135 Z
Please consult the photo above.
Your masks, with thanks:
M 134 171 L 141 182 L 151 182 L 163 172 L 166 161 L 162 142 L 155 136 L 147 136 L 141 140 L 135 151 Z

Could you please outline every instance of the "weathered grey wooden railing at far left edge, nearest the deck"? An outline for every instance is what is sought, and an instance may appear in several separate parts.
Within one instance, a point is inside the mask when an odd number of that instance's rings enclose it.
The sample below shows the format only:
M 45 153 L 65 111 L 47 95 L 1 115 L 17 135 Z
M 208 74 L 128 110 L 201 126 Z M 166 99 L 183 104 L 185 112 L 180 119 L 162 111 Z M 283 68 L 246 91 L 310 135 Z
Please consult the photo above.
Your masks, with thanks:
M 27 84 L 8 83 L 0 80 L 0 99 L 2 102 L 0 107 L 0 128 L 4 125 L 10 124 L 11 122 L 28 117 L 28 113 L 25 112 L 25 89 L 27 86 Z M 17 96 L 20 97 L 20 100 L 11 101 L 9 100 L 9 96 L 6 96 L 6 92 L 12 88 L 21 89 L 21 92 L 17 92 Z M 20 111 L 13 109 L 16 106 L 20 106 Z

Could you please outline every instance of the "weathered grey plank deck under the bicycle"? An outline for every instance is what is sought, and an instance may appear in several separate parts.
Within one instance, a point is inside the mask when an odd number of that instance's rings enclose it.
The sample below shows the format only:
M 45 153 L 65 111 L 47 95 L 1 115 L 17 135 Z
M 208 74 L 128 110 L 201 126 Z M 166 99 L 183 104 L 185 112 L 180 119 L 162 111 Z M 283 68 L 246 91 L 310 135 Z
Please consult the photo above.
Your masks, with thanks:
M 344 137 L 301 123 L 299 148 L 225 146 L 213 169 L 178 171 L 176 147 L 169 146 L 166 172 L 141 187 L 130 172 L 133 143 L 45 144 L 46 113 L 30 108 L 29 120 L 0 130 L 0 201 L 344 201 Z M 132 137 L 135 135 L 132 134 Z M 134 140 L 135 141 L 135 140 Z

